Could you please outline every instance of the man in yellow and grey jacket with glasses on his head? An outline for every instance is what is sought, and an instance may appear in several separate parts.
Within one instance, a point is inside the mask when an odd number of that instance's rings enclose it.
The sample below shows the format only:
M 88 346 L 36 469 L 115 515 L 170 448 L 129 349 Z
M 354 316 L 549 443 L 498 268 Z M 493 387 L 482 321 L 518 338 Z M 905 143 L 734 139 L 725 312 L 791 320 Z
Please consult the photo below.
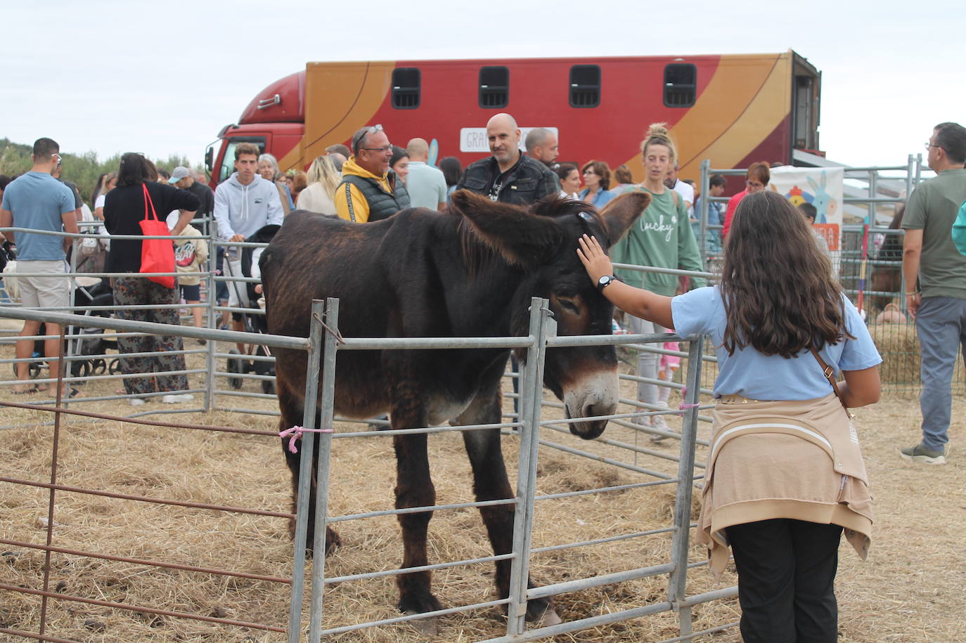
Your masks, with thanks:
M 409 208 L 406 185 L 389 169 L 392 144 L 383 126 L 360 128 L 352 144 L 353 154 L 342 166 L 342 182 L 335 188 L 335 213 L 347 221 L 366 223 Z

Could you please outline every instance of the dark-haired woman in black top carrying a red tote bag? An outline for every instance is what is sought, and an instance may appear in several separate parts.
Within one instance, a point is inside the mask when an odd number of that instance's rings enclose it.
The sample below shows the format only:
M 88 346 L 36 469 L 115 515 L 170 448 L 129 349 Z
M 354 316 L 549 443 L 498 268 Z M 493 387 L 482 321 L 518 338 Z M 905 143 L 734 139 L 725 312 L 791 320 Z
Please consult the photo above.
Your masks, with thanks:
M 104 225 L 111 235 L 176 236 L 194 216 L 201 203 L 198 197 L 156 182 L 157 171 L 142 154 L 128 153 L 121 156 L 117 187 L 111 190 L 104 202 Z M 182 210 L 174 230 L 168 232 L 164 219 L 158 220 L 157 212 Z M 159 224 L 159 225 L 158 225 Z M 170 253 L 170 262 L 167 257 Z M 170 266 L 168 266 L 170 263 Z M 114 277 L 114 303 L 118 306 L 163 305 L 149 310 L 119 310 L 115 317 L 121 320 L 138 320 L 178 324 L 178 284 L 173 275 L 134 276 L 140 272 L 175 272 L 174 245 L 171 239 L 111 239 L 111 252 L 107 258 L 107 272 L 123 273 Z M 189 402 L 192 396 L 185 371 L 185 355 L 159 354 L 141 357 L 125 357 L 126 353 L 168 352 L 183 349 L 181 337 L 147 335 L 144 337 L 119 337 L 118 349 L 122 353 L 121 372 L 126 376 L 125 392 L 131 396 L 131 405 L 143 405 L 153 397 L 162 395 L 166 403 Z M 178 375 L 155 373 L 178 372 Z

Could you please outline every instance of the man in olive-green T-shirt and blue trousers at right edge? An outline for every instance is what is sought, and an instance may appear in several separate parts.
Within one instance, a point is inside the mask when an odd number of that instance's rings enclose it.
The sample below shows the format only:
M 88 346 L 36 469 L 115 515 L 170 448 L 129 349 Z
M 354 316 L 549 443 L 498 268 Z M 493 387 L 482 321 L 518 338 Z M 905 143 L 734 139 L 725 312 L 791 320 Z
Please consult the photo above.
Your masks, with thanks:
M 956 352 L 960 346 L 966 352 L 966 257 L 952 242 L 952 222 L 966 201 L 966 127 L 940 123 L 925 149 L 936 177 L 916 187 L 902 215 L 906 307 L 916 318 L 922 355 L 923 439 L 899 454 L 909 461 L 945 464 Z

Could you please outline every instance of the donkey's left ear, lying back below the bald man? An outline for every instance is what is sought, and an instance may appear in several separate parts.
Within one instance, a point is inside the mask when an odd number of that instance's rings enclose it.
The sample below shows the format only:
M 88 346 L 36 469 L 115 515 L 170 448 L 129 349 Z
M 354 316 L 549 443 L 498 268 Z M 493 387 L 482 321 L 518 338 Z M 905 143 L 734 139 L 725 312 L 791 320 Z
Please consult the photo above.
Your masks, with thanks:
M 491 201 L 469 190 L 453 192 L 450 206 L 469 222 L 476 238 L 510 264 L 539 265 L 563 240 L 563 232 L 553 219 L 530 214 L 521 206 Z

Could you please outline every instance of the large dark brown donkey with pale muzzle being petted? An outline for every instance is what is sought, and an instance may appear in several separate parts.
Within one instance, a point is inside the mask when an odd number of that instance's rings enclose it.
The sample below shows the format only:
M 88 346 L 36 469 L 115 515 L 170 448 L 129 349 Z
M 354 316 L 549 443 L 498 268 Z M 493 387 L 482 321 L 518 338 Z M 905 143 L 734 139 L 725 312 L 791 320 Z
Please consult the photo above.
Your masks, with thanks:
M 461 190 L 450 212 L 402 210 L 383 221 L 348 223 L 295 211 L 262 255 L 269 332 L 305 337 L 312 299 L 339 297 L 339 330 L 345 337 L 522 336 L 534 296 L 550 299 L 563 335 L 611 333 L 612 306 L 587 277 L 577 239 L 593 235 L 606 249 L 650 202 L 645 193 L 618 197 L 598 213 L 578 201 L 548 198 L 525 209 Z M 336 412 L 358 419 L 386 411 L 393 430 L 497 424 L 500 378 L 509 349 L 347 350 L 335 369 Z M 526 352 L 521 350 L 521 360 Z M 276 385 L 280 427 L 300 423 L 306 355 L 277 349 Z M 567 417 L 607 415 L 618 401 L 617 360 L 612 346 L 549 349 L 544 383 L 564 402 Z M 592 439 L 606 421 L 570 425 Z M 500 451 L 500 433 L 465 432 L 464 444 L 477 501 L 514 497 Z M 282 450 L 298 500 L 299 457 Z M 397 508 L 436 504 L 427 435 L 395 435 Z M 310 507 L 315 506 L 313 481 Z M 511 551 L 514 509 L 480 509 L 494 553 Z M 399 516 L 402 567 L 427 565 L 426 535 L 432 512 Z M 308 545 L 315 517 L 308 518 Z M 338 545 L 327 530 L 326 546 Z M 497 594 L 509 592 L 510 561 L 496 563 Z M 407 614 L 440 609 L 429 572 L 397 576 L 399 609 Z M 533 585 L 530 584 L 532 587 Z M 528 621 L 559 623 L 551 601 L 534 599 Z M 434 623 L 424 623 L 432 631 Z

